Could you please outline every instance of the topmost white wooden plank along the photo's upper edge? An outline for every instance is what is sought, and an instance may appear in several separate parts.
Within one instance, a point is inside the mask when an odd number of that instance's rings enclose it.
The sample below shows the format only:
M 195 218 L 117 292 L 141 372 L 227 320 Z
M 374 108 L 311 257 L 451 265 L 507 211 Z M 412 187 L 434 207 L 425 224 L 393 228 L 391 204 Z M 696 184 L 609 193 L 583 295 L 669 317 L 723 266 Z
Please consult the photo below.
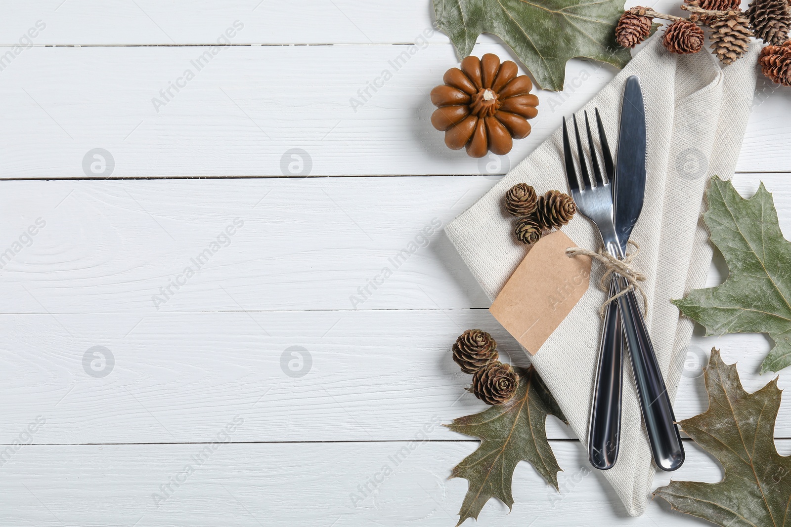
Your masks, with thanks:
M 36 21 L 43 31 L 32 32 L 35 45 L 172 45 L 216 43 L 240 21 L 244 28 L 234 44 L 414 43 L 433 24 L 431 2 L 426 0 L 225 0 L 195 2 L 90 2 L 42 0 L 6 2 L 0 21 L 0 45 L 29 45 L 24 39 Z M 672 9 L 672 0 L 660 0 L 655 9 Z M 667 11 L 665 11 L 667 12 Z M 28 35 L 29 36 L 29 35 Z M 484 42 L 492 39 L 483 37 Z M 430 42 L 448 43 L 437 32 Z

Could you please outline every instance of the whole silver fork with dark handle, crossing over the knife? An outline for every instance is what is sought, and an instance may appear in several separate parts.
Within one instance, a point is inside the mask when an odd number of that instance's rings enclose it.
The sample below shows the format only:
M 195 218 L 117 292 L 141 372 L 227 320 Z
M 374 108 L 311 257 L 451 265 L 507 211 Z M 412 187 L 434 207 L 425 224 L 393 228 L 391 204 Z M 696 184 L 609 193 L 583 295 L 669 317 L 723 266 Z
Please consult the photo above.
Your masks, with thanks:
M 593 181 L 585 162 L 585 152 L 576 117 L 573 118 L 573 122 L 583 186 L 580 187 L 577 179 L 569 133 L 566 129 L 566 119 L 563 119 L 563 157 L 566 162 L 566 178 L 569 181 L 571 197 L 577 204 L 580 213 L 596 224 L 605 250 L 615 258 L 623 258 L 623 251 L 613 223 L 611 183 L 605 182 L 602 178 L 587 113 L 585 125 L 588 131 Z M 618 292 L 628 287 L 626 279 L 619 275 L 615 275 L 613 281 Z M 676 427 L 676 418 L 673 415 L 668 390 L 664 386 L 664 379 L 657 363 L 657 357 L 653 352 L 653 344 L 651 344 L 648 329 L 645 326 L 645 319 L 638 307 L 634 291 L 619 296 L 617 302 L 653 461 L 662 470 L 676 470 L 684 461 L 681 435 Z

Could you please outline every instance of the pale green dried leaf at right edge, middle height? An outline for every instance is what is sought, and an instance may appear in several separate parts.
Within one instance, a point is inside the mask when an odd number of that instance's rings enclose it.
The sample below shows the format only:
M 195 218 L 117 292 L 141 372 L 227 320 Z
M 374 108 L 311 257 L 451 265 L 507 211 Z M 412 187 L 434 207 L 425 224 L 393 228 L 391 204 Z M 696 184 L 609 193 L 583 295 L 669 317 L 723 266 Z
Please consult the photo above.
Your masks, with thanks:
M 780 231 L 772 194 L 763 183 L 750 199 L 714 177 L 703 220 L 725 257 L 730 276 L 716 288 L 673 300 L 706 334 L 769 333 L 774 348 L 761 373 L 791 364 L 791 243 Z

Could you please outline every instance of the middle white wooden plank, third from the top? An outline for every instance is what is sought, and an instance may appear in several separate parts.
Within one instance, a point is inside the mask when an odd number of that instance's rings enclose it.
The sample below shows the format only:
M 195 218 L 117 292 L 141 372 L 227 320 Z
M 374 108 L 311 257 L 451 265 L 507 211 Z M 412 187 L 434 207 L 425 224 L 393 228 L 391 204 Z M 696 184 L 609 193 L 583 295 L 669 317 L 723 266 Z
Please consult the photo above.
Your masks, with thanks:
M 774 190 L 787 228 L 787 176 L 739 175 L 736 184 L 751 192 L 760 180 Z M 0 312 L 487 308 L 439 229 L 494 183 L 480 176 L 6 182 Z M 28 236 L 38 218 L 46 226 Z M 218 238 L 221 246 L 212 246 Z M 384 268 L 392 273 L 386 279 Z M 718 262 L 712 283 L 725 272 Z M 375 278 L 384 284 L 369 284 Z

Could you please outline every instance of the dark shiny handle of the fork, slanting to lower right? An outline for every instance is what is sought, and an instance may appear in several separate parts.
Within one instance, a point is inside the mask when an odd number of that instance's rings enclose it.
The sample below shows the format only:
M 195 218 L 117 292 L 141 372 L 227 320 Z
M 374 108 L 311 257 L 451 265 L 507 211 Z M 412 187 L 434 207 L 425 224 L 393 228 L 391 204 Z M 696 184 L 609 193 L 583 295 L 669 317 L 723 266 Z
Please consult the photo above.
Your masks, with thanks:
M 619 291 L 627 287 L 623 277 L 617 277 L 615 284 Z M 684 462 L 684 447 L 634 290 L 618 297 L 618 307 L 653 461 L 662 470 L 676 470 Z

